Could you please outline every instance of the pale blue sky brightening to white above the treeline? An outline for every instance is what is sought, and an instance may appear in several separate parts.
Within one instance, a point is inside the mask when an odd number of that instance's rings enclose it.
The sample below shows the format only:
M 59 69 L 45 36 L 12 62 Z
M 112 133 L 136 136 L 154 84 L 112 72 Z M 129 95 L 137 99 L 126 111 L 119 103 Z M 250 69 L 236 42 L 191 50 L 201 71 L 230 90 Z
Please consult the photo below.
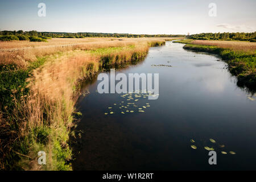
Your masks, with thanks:
M 46 16 L 38 16 L 45 3 Z M 210 3 L 216 4 L 216 16 Z M 255 0 L 0 1 L 0 29 L 47 32 L 197 34 L 256 31 Z

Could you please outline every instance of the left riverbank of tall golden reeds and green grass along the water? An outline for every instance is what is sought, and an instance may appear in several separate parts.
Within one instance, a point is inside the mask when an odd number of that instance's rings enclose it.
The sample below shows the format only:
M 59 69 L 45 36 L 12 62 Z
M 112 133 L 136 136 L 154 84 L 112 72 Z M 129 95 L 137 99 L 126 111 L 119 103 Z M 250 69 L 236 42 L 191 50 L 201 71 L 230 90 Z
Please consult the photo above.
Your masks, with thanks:
M 70 170 L 77 88 L 102 68 L 146 56 L 163 39 L 94 42 L 69 48 L 1 53 L 0 167 Z M 47 164 L 38 165 L 38 151 Z

